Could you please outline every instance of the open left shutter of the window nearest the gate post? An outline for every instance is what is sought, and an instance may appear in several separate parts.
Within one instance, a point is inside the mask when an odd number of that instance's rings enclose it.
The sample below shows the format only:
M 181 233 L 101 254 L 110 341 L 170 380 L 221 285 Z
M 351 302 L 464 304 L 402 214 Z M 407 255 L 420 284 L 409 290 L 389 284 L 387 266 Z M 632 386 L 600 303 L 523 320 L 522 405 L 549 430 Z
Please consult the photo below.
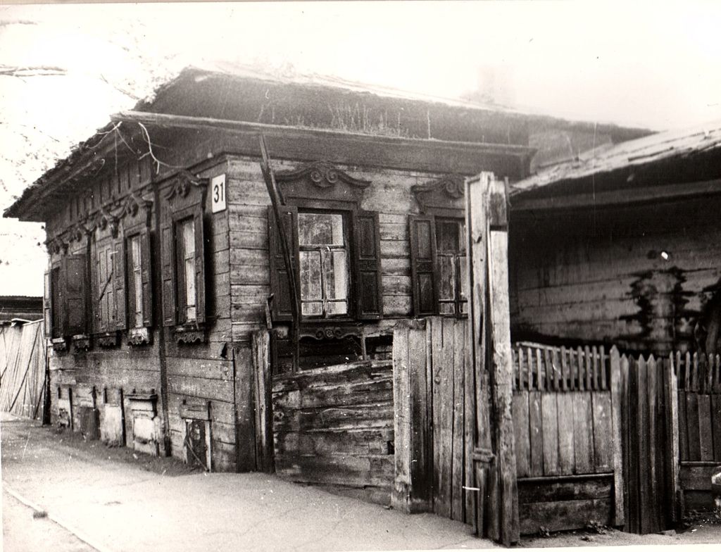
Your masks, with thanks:
M 435 225 L 433 217 L 411 215 L 410 272 L 413 288 L 413 313 L 428 316 L 438 310 L 435 293 Z

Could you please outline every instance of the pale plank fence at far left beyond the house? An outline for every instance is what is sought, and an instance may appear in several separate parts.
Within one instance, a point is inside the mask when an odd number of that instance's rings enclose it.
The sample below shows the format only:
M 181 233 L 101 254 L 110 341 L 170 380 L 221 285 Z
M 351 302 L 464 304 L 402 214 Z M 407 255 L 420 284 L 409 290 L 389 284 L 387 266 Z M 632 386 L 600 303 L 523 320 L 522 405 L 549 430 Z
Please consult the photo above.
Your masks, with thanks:
M 43 321 L 0 327 L 0 410 L 32 419 L 45 417 Z

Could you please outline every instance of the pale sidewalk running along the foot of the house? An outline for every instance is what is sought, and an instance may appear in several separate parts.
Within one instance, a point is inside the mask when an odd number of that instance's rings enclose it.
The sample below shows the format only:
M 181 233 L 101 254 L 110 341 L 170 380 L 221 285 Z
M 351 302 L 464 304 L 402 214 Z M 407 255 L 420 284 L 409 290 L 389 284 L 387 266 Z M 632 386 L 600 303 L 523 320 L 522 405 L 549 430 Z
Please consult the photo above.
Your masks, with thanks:
M 57 519 L 103 552 L 494 546 L 459 522 L 403 515 L 266 474 L 188 473 L 177 461 L 141 455 L 136 461 L 144 469 L 138 468 L 119 459 L 129 455 L 133 461 L 132 451 L 110 450 L 99 442 L 68 446 L 67 434 L 7 414 L 0 433 L 4 489 L 50 516 L 33 520 L 28 515 L 28 527 L 21 528 L 16 522 L 22 517 L 16 515 L 6 528 L 11 532 Z M 3 500 L 13 511 L 17 507 L 6 492 Z M 9 543 L 5 549 L 12 552 Z

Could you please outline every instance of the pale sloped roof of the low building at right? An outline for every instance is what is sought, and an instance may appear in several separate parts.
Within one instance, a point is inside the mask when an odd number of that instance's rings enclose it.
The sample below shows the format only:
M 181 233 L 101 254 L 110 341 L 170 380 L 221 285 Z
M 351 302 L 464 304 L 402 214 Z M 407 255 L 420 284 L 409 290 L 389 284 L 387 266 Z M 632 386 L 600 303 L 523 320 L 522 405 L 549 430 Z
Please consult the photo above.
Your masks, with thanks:
M 618 144 L 585 151 L 578 159 L 547 167 L 511 186 L 519 195 L 556 184 L 570 184 L 588 177 L 601 177 L 636 166 L 673 159 L 688 160 L 702 153 L 721 151 L 721 120 L 683 130 L 670 130 Z

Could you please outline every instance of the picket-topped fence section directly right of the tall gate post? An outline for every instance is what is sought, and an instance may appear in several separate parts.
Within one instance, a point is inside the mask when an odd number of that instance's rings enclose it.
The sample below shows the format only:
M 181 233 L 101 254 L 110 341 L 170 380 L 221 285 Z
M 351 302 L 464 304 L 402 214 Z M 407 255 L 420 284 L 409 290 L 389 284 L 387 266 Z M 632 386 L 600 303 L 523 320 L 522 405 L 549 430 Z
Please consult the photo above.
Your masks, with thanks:
M 603 347 L 513 347 L 521 533 L 622 525 L 618 355 Z

